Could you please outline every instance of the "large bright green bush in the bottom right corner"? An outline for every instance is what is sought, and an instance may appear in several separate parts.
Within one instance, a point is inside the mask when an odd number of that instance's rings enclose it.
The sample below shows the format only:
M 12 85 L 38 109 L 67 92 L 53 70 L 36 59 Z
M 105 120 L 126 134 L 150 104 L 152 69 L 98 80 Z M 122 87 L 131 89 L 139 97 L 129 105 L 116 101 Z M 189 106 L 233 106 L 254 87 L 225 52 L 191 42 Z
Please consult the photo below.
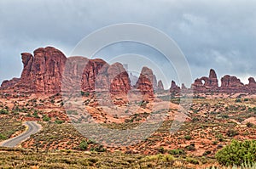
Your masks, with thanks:
M 215 157 L 218 163 L 224 166 L 241 166 L 243 163 L 256 162 L 256 140 L 233 140 L 230 145 L 219 150 Z

